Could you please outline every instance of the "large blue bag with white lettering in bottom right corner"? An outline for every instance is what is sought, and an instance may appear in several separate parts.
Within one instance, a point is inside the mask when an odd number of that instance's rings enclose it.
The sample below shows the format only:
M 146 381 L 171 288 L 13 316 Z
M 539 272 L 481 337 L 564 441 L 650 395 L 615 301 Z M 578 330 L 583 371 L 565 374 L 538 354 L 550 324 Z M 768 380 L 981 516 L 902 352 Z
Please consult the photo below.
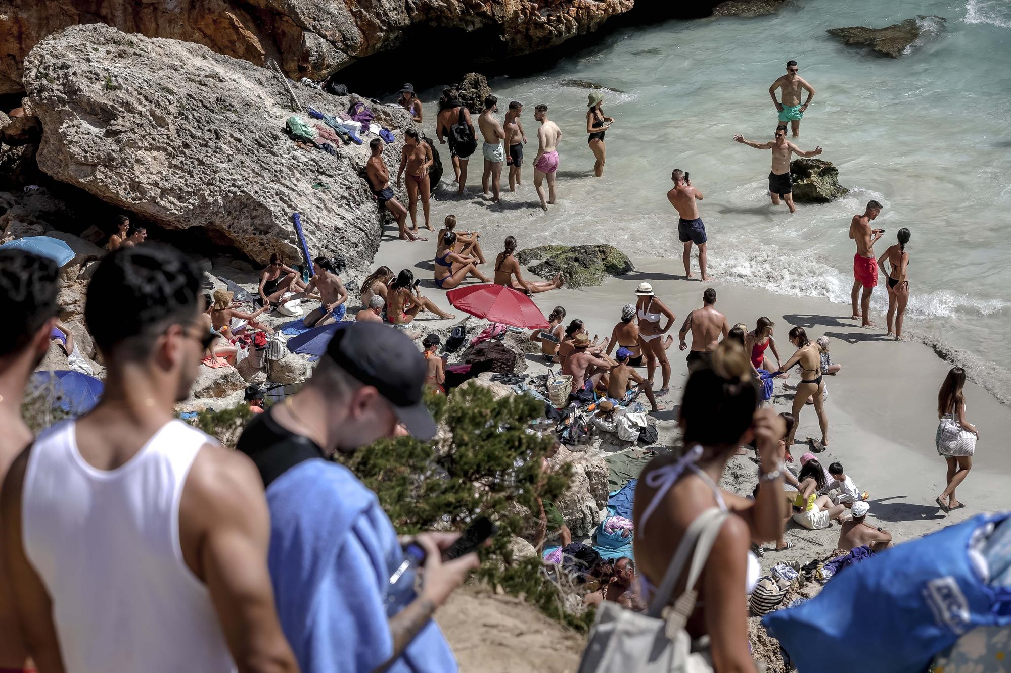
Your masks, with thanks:
M 986 584 L 969 558 L 973 532 L 1009 515 L 980 514 L 881 552 L 762 623 L 800 673 L 922 673 L 962 634 L 1011 624 L 1011 588 Z

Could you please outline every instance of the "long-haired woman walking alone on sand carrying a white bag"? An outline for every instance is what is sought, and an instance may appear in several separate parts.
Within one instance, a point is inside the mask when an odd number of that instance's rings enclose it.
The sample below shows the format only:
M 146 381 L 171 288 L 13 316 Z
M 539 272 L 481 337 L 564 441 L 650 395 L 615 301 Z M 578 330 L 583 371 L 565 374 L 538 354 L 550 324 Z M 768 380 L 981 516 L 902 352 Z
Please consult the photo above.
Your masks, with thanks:
M 934 442 L 937 453 L 944 457 L 948 469 L 947 487 L 934 501 L 945 514 L 962 506 L 954 496 L 954 489 L 969 476 L 969 471 L 973 468 L 976 441 L 980 439 L 976 425 L 966 420 L 964 386 L 966 370 L 952 367 L 937 393 L 937 416 L 940 422 L 937 424 Z

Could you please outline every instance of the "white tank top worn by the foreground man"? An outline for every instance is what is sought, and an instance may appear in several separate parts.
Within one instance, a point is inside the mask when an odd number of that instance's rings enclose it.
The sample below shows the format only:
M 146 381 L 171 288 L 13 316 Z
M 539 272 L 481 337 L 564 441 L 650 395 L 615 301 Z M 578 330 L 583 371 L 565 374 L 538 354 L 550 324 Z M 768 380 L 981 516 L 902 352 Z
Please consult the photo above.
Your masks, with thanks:
M 186 475 L 214 440 L 172 420 L 106 471 L 85 462 L 75 430 L 66 421 L 35 441 L 21 507 L 66 670 L 234 671 L 210 594 L 179 542 Z

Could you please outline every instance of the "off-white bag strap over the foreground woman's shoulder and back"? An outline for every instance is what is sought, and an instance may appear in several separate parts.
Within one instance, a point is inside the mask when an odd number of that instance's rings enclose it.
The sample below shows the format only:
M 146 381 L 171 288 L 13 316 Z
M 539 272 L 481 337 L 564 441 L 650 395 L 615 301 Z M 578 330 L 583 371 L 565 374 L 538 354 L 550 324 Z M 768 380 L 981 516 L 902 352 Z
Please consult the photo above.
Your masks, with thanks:
M 727 516 L 729 516 L 728 512 L 721 511 L 717 507 L 710 507 L 696 516 L 687 531 L 684 532 L 684 537 L 677 546 L 677 551 L 674 552 L 673 557 L 670 559 L 667 572 L 664 573 L 663 581 L 660 582 L 660 586 L 657 588 L 646 614 L 651 617 L 660 616 L 663 608 L 670 602 L 670 595 L 673 593 L 677 580 L 681 578 L 684 567 L 687 565 L 688 557 L 691 556 L 692 563 L 687 568 L 688 576 L 687 582 L 684 585 L 684 593 L 677 598 L 677 602 L 674 605 L 676 618 L 678 620 L 687 620 L 687 615 L 695 609 L 697 595 L 695 589 L 696 582 L 699 581 L 699 575 L 702 574 L 702 569 L 706 565 L 709 553 L 713 549 L 713 543 L 716 542 L 716 537 L 719 535 L 720 528 L 723 526 L 723 522 Z M 683 622 L 680 626 L 683 627 Z

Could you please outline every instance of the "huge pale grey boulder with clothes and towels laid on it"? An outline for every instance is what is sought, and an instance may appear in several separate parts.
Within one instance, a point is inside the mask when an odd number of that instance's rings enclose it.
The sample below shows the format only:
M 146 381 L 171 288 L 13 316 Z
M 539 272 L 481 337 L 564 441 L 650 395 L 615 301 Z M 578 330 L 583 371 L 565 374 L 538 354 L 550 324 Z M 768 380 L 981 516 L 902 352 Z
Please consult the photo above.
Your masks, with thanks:
M 57 180 L 165 228 L 201 227 L 211 243 L 260 263 L 274 252 L 301 258 L 293 212 L 312 255 L 364 267 L 378 249 L 368 145 L 342 147 L 337 157 L 296 147 L 283 130 L 288 93 L 268 69 L 91 24 L 35 46 L 24 83 L 45 128 L 38 167 Z M 331 113 L 362 100 L 308 87 L 297 96 Z M 393 172 L 412 122 L 394 106 L 373 113 L 395 131 L 383 155 Z M 312 189 L 317 182 L 333 189 Z

